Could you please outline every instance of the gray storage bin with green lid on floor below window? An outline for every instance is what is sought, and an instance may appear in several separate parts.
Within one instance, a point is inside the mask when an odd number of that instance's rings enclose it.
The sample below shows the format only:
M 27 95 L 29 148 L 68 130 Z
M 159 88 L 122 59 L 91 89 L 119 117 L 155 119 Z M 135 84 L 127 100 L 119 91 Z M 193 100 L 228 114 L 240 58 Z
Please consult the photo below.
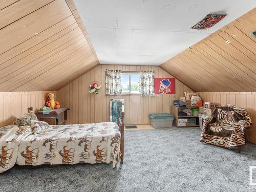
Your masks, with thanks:
M 168 113 L 153 113 L 148 117 L 150 117 L 150 124 L 154 128 L 173 127 L 173 115 L 169 115 Z

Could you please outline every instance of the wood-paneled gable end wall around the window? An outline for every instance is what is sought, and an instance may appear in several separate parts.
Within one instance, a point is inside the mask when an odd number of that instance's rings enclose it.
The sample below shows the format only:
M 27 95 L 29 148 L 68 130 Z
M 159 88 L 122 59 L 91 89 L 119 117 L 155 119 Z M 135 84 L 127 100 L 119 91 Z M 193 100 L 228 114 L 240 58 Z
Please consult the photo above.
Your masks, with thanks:
M 67 86 L 57 91 L 57 99 L 61 106 L 70 108 L 68 123 L 89 123 L 109 121 L 110 99 L 123 98 L 125 110 L 125 124 L 147 124 L 150 113 L 172 113 L 170 106 L 173 100 L 190 91 L 183 83 L 176 80 L 176 94 L 156 95 L 154 97 L 123 95 L 105 95 L 105 70 L 119 69 L 123 71 L 153 70 L 156 77 L 172 77 L 156 66 L 117 66 L 99 65 L 78 77 Z M 93 81 L 99 81 L 102 88 L 97 95 L 88 93 Z

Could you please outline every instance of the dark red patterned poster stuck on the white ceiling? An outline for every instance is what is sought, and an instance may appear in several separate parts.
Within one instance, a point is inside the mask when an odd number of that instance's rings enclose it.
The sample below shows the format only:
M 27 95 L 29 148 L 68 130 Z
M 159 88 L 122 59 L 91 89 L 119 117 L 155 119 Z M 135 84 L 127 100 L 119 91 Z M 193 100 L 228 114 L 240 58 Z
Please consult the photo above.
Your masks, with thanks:
M 217 24 L 226 15 L 223 14 L 208 14 L 200 22 L 191 27 L 191 29 L 209 29 Z

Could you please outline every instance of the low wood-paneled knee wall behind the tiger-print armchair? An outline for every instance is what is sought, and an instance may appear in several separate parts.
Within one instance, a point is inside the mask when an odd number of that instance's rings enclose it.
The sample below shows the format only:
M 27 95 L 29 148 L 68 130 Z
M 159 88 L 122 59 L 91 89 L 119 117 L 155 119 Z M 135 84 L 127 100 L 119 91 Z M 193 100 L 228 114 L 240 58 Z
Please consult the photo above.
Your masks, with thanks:
M 198 92 L 203 102 L 214 102 L 217 106 L 234 104 L 245 108 L 253 125 L 246 131 L 246 140 L 256 144 L 256 92 Z

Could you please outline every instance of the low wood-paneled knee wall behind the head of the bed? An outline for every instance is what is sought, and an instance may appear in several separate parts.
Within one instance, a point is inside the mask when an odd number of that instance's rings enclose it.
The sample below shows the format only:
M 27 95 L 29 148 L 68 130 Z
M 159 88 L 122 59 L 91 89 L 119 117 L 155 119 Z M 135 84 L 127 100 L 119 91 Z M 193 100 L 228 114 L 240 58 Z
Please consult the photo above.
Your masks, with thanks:
M 48 92 L 0 92 L 0 127 L 11 124 L 16 117 L 27 113 L 30 106 L 33 106 L 34 111 L 42 108 Z M 51 93 L 56 95 L 57 92 Z

